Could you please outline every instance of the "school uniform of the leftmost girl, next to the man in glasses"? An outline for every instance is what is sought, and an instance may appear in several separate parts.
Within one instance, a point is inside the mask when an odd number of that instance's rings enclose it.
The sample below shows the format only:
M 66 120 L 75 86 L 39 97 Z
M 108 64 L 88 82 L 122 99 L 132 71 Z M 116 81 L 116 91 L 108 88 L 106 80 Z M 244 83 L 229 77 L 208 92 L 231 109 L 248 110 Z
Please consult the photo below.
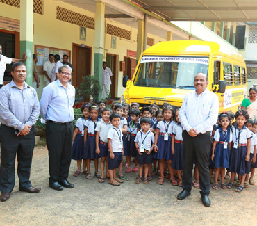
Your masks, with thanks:
M 78 129 L 78 134 L 72 145 L 72 159 L 82 160 L 83 149 L 84 149 L 84 129 L 85 129 L 85 118 L 78 118 L 75 127 Z

